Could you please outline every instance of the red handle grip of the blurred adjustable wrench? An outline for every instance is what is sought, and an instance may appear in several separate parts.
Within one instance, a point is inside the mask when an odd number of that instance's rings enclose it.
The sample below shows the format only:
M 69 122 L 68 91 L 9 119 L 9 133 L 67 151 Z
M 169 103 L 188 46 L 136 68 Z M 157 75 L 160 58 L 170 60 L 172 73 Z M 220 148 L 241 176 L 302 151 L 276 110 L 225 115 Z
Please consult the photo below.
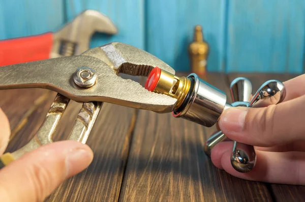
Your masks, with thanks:
M 53 33 L 0 41 L 0 66 L 50 58 Z

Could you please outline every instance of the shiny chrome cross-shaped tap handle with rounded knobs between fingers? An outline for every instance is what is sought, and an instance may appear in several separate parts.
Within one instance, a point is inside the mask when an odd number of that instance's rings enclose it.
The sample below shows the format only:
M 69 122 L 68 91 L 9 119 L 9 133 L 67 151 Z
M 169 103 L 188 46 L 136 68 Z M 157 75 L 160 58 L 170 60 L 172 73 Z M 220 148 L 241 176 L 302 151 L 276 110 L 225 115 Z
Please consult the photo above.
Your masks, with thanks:
M 258 91 L 251 98 L 252 84 L 247 78 L 236 78 L 230 85 L 233 103 L 229 107 L 261 107 L 270 104 L 278 104 L 283 101 L 286 95 L 285 86 L 278 80 L 269 80 L 262 84 Z M 204 147 L 205 153 L 210 156 L 211 149 L 226 138 L 221 131 L 211 135 Z M 231 164 L 239 172 L 249 172 L 256 164 L 256 154 L 253 146 L 245 145 L 234 141 Z

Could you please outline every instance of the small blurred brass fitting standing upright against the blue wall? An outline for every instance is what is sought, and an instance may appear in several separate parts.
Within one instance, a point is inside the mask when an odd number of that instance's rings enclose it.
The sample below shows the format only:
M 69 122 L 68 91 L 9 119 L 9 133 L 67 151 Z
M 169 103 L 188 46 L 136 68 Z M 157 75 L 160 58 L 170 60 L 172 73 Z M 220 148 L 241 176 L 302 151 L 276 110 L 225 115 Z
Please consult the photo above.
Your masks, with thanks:
M 194 29 L 194 41 L 189 46 L 191 71 L 198 76 L 206 73 L 208 44 L 203 40 L 202 27 L 196 25 Z

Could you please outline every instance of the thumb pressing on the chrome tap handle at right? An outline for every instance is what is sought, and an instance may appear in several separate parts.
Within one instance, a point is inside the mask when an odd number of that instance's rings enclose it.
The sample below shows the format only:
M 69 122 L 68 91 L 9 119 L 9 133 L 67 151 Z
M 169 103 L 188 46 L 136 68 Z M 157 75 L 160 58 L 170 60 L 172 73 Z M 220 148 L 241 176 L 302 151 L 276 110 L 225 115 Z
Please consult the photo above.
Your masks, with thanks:
M 230 139 L 259 147 L 271 147 L 305 139 L 305 96 L 263 108 L 231 107 L 219 120 Z

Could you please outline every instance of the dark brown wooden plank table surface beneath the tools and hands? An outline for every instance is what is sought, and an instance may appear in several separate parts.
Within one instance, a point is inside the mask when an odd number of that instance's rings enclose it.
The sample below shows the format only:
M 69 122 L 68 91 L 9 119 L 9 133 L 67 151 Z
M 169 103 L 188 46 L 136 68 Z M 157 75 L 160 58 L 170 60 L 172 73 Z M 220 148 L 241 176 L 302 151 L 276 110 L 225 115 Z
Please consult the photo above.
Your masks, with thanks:
M 204 80 L 229 93 L 230 81 L 239 76 L 249 78 L 255 91 L 268 79 L 296 75 L 209 73 Z M 55 93 L 22 89 L 0 95 L 13 130 L 7 149 L 12 152 L 38 130 Z M 67 137 L 80 107 L 70 102 L 54 140 Z M 92 164 L 46 201 L 305 201 L 304 186 L 241 180 L 212 165 L 203 146 L 215 131 L 170 113 L 105 103 L 87 141 Z

